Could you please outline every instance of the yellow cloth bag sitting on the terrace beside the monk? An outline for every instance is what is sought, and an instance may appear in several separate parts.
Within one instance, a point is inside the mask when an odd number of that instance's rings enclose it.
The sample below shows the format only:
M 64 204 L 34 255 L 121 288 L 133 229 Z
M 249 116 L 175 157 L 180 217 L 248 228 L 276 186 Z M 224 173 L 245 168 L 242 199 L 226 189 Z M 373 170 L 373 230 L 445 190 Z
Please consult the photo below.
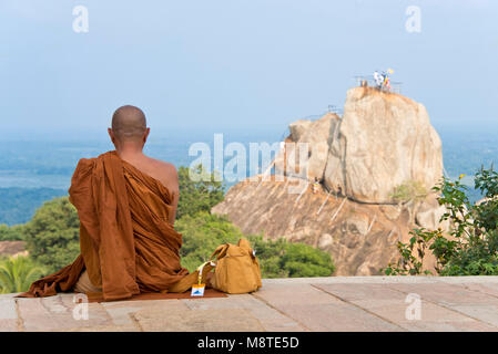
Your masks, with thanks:
M 246 239 L 237 244 L 218 246 L 211 256 L 216 263 L 212 287 L 230 294 L 254 292 L 261 288 L 260 262 Z

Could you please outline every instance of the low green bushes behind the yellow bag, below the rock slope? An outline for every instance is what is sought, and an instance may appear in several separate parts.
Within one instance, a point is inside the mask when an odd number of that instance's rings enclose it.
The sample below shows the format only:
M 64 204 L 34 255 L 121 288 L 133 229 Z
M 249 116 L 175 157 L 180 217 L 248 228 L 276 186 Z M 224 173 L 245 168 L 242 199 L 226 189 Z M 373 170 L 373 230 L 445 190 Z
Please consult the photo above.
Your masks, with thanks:
M 185 216 L 176 222 L 183 235 L 182 266 L 190 271 L 209 260 L 222 243 L 250 240 L 260 260 L 263 278 L 328 277 L 335 268 L 331 256 L 303 243 L 289 243 L 285 239 L 264 240 L 261 236 L 244 236 L 238 228 L 223 217 L 200 212 Z

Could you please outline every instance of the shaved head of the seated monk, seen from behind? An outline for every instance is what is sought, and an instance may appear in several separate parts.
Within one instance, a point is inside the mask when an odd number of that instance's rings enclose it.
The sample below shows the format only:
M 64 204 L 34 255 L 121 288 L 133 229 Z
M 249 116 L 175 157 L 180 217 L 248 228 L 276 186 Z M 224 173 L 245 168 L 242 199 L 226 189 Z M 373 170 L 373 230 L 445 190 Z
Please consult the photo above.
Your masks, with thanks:
M 146 126 L 145 114 L 135 106 L 119 107 L 112 115 L 112 132 L 121 140 L 140 139 Z

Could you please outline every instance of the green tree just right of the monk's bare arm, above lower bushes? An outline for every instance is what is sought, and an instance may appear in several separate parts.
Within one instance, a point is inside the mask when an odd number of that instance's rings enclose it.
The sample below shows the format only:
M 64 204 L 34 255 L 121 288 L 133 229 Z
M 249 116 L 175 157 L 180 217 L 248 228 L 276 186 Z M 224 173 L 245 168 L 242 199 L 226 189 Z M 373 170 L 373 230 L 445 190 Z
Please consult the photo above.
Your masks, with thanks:
M 179 168 L 177 219 L 200 211 L 211 212 L 211 208 L 223 200 L 225 185 L 215 177 L 215 173 L 207 173 L 202 165 L 192 169 L 183 166 Z

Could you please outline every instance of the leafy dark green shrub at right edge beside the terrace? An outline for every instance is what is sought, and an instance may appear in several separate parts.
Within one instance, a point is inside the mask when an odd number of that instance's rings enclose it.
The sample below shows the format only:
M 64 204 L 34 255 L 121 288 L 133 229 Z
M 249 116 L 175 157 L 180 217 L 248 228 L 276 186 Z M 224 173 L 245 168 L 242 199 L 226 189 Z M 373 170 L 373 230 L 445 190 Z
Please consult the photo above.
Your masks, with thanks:
M 461 181 L 443 178 L 434 189 L 447 212 L 443 220 L 450 222 L 449 235 L 441 229 L 411 231 L 408 243 L 398 242 L 400 259 L 389 264 L 386 274 L 431 273 L 423 270 L 427 251 L 436 257 L 435 272 L 440 275 L 498 274 L 498 173 L 481 168 L 475 176 L 475 188 L 485 196 L 481 202 L 469 200 L 468 187 Z

